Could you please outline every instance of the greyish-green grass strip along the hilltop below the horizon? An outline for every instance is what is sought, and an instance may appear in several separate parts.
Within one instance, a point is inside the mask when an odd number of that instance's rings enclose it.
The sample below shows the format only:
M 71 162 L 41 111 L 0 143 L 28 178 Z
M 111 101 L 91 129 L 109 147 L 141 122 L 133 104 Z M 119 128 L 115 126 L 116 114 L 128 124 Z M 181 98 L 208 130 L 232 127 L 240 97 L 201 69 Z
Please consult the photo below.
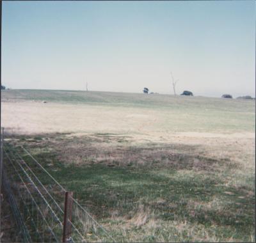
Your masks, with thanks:
M 177 95 L 118 93 L 101 91 L 67 90 L 2 90 L 4 99 L 45 100 L 48 102 L 111 104 L 112 106 L 136 106 L 154 108 L 218 109 L 220 111 L 253 112 L 254 100 L 209 97 L 186 97 Z

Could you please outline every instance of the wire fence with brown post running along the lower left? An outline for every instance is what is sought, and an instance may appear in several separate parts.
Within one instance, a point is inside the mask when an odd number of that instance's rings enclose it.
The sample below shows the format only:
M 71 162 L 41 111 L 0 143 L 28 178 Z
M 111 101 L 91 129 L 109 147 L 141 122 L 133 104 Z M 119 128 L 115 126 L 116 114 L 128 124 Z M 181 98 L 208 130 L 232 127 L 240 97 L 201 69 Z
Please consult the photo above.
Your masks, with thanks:
M 115 242 L 23 146 L 12 146 L 1 129 L 1 181 L 24 242 Z

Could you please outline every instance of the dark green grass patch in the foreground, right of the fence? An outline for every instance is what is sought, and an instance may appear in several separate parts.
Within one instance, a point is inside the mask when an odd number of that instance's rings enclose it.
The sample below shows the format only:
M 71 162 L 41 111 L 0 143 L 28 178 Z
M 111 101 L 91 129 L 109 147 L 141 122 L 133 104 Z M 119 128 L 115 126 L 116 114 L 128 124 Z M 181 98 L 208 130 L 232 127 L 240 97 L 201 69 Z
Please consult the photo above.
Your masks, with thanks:
M 36 158 L 54 161 L 52 153 L 39 153 Z M 186 220 L 205 226 L 234 226 L 245 231 L 253 225 L 255 199 L 250 189 L 223 186 L 225 183 L 219 176 L 184 168 L 109 168 L 105 164 L 63 166 L 58 161 L 52 163 L 54 178 L 74 191 L 76 198 L 99 219 L 111 217 L 113 210 L 118 210 L 122 217 L 132 217 L 132 210 L 143 204 L 164 221 Z M 51 169 L 47 161 L 43 164 Z M 212 198 L 221 198 L 221 205 L 204 207 Z M 157 199 L 162 201 L 157 202 Z

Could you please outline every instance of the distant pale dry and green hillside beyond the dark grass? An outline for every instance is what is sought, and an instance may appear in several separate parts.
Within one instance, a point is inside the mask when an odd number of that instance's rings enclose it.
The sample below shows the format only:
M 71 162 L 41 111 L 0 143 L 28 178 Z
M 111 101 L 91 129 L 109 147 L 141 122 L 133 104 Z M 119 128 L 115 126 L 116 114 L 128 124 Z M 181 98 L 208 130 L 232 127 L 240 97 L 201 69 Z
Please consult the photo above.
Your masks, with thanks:
M 6 90 L 2 96 L 3 125 L 19 133 L 255 130 L 252 100 L 47 90 Z

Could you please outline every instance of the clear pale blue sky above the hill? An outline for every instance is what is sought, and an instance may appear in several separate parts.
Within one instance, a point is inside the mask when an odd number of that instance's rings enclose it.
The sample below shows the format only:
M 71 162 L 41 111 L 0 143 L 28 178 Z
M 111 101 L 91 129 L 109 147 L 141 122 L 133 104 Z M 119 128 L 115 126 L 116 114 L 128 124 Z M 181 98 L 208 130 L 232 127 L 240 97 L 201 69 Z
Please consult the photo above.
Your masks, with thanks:
M 255 1 L 3 1 L 13 89 L 255 97 Z

